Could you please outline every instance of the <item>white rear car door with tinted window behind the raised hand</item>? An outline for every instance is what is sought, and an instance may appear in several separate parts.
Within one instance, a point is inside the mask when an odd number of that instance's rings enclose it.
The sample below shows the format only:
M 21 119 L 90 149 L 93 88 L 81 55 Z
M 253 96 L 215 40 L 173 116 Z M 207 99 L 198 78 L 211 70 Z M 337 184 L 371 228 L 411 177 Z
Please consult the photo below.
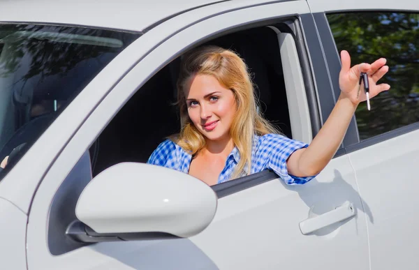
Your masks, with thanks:
M 358 107 L 356 133 L 344 147 L 368 204 L 365 214 L 370 213 L 366 220 L 371 269 L 417 269 L 418 69 L 413 66 L 419 59 L 419 4 L 309 0 L 309 5 L 328 48 L 329 70 L 337 70 L 337 50 L 345 47 L 358 61 L 388 61 L 388 74 L 381 81 L 390 84 L 390 91 L 374 98 L 370 111 L 363 104 Z

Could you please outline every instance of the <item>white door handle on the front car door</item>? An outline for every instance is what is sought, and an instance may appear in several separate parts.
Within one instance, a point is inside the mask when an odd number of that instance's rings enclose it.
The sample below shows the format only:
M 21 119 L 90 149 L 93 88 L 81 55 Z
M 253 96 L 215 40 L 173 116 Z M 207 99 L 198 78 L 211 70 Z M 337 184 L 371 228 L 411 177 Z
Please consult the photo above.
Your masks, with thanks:
M 332 211 L 321 214 L 314 218 L 307 218 L 300 222 L 300 230 L 302 234 L 310 234 L 323 227 L 327 227 L 339 221 L 346 220 L 355 216 L 355 208 L 351 202 L 345 202 L 340 207 Z

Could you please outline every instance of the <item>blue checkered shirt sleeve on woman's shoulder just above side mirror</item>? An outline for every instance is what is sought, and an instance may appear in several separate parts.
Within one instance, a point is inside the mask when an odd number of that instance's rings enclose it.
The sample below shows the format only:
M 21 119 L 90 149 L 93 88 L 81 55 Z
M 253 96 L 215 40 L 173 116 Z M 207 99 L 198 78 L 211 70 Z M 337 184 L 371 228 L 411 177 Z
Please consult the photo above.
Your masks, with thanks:
M 147 163 L 177 170 L 179 167 L 177 161 L 175 143 L 171 140 L 165 140 L 153 151 Z

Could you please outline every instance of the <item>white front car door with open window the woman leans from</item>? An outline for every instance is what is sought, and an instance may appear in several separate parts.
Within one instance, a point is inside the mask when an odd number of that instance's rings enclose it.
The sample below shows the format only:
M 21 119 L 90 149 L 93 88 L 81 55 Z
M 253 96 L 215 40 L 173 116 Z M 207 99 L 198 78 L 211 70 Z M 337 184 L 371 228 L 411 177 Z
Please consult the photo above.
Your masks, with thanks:
M 202 233 L 188 239 L 73 243 L 65 230 L 58 230 L 68 226 L 66 213 L 74 212 L 78 197 L 71 194 L 80 195 L 90 180 L 87 150 L 138 87 L 205 38 L 277 19 L 300 31 L 297 41 L 292 34 L 282 36 L 286 50 L 281 55 L 293 60 L 283 63 L 290 68 L 286 84 L 292 80 L 300 86 L 290 91 L 290 114 L 297 127 L 293 137 L 311 140 L 304 134 L 315 134 L 322 122 L 313 114 L 318 110 L 314 89 L 319 84 L 314 84 L 311 65 L 324 68 L 325 59 L 315 35 L 303 41 L 307 31 L 315 29 L 306 1 L 232 1 L 163 22 L 128 47 L 145 53 L 87 117 L 45 174 L 29 213 L 29 269 L 368 269 L 366 221 L 359 214 L 364 207 L 343 151 L 304 186 L 286 186 L 271 172 L 214 186 L 219 196 L 216 216 Z M 315 82 L 321 82 L 328 75 L 315 76 Z M 332 91 L 331 85 L 323 87 Z M 62 211 L 54 208 L 56 202 Z

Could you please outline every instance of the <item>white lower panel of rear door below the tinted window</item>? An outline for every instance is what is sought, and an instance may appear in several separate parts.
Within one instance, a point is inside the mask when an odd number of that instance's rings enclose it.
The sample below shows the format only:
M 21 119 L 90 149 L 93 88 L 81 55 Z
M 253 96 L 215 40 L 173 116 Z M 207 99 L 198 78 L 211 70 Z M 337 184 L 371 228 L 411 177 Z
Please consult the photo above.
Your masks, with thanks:
M 418 130 L 349 153 L 371 213 L 372 269 L 418 269 L 418 156 Z

